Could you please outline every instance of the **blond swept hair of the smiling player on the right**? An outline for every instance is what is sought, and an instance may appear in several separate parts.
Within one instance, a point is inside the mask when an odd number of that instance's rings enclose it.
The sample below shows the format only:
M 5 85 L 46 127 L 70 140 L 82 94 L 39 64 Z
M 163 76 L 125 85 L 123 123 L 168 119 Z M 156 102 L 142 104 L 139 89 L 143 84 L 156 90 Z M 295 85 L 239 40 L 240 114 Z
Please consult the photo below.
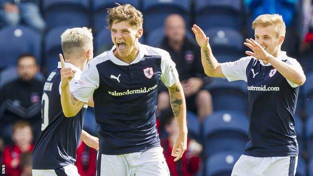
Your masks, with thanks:
M 274 26 L 274 31 L 276 32 L 276 37 L 285 36 L 286 25 L 282 20 L 282 16 L 278 14 L 264 14 L 258 16 L 252 23 L 252 29 L 255 30 L 257 26 L 268 27 Z

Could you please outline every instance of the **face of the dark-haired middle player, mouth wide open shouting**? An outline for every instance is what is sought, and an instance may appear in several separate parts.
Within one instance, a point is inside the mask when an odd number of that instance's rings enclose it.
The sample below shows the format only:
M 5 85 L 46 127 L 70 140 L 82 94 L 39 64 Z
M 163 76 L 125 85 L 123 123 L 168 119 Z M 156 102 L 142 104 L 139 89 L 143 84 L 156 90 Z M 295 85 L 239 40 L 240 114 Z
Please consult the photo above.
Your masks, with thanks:
M 135 28 L 128 21 L 114 22 L 111 27 L 111 38 L 116 46 L 116 54 L 121 58 L 127 58 L 138 49 L 142 28 Z

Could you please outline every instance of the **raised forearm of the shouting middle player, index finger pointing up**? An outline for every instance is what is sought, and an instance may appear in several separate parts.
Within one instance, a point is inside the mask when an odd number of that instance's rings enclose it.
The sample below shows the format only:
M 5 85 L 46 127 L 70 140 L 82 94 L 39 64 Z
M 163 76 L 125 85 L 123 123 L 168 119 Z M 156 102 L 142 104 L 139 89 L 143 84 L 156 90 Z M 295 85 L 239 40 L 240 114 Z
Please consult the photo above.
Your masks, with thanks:
M 66 117 L 75 116 L 83 107 L 85 102 L 77 100 L 70 92 L 69 82 L 74 77 L 75 71 L 65 68 L 62 54 L 59 55 L 61 61 L 61 105 Z

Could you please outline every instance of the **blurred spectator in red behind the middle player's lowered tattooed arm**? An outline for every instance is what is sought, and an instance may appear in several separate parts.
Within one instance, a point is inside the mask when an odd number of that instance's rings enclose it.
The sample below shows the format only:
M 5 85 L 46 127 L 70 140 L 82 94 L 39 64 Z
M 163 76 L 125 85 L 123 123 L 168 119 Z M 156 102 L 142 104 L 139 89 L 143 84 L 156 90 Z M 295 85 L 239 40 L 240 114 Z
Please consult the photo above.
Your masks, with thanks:
M 183 154 L 180 161 L 174 162 L 175 157 L 171 155 L 171 151 L 179 130 L 173 113 L 165 118 L 165 130 L 168 133 L 168 138 L 161 140 L 161 145 L 171 175 L 191 176 L 197 173 L 201 162 L 199 154 L 202 151 L 202 145 L 194 139 L 188 139 L 187 151 Z

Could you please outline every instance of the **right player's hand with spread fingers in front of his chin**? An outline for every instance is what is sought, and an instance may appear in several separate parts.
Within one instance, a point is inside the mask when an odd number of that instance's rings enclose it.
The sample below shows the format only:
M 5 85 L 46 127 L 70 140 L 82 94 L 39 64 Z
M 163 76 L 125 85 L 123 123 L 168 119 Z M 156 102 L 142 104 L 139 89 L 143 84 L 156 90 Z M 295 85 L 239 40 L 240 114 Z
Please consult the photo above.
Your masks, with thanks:
M 268 54 L 260 44 L 258 44 L 255 40 L 253 39 L 246 39 L 246 42 L 243 43 L 245 46 L 249 47 L 253 52 L 251 51 L 246 51 L 245 53 L 249 56 L 253 56 L 256 59 L 259 60 L 267 60 Z

